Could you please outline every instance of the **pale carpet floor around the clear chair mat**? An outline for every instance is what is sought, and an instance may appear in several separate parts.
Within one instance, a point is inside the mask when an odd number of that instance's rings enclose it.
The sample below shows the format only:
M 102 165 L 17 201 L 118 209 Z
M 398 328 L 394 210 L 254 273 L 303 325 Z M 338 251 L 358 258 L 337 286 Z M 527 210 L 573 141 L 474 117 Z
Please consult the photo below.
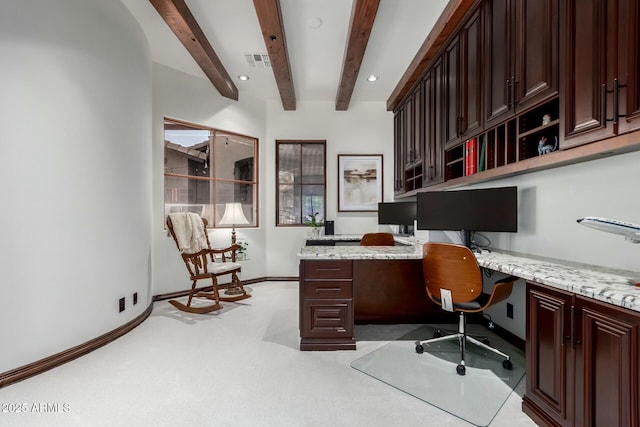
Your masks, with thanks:
M 115 342 L 0 389 L 0 403 L 28 408 L 0 412 L 0 425 L 469 426 L 351 368 L 416 325 L 358 326 L 356 351 L 300 352 L 298 283 L 249 289 L 253 298 L 210 315 L 156 303 Z M 491 426 L 533 426 L 520 405 L 512 394 Z

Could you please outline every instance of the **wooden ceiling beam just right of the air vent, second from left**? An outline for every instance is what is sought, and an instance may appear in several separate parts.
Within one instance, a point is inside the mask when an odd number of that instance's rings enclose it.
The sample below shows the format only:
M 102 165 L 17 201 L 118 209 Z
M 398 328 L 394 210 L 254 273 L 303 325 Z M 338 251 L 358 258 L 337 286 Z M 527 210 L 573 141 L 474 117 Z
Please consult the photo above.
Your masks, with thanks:
M 286 111 L 293 111 L 296 109 L 296 92 L 287 53 L 287 39 L 282 25 L 280 1 L 253 0 L 253 6 L 258 15 L 264 44 L 267 47 L 278 91 L 280 91 L 282 107 Z

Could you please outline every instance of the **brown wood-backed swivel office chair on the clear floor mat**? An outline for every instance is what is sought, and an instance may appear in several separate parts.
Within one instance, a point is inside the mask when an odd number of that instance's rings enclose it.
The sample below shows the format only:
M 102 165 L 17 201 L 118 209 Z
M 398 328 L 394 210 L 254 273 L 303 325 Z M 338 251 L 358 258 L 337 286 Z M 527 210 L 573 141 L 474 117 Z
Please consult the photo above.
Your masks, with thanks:
M 485 294 L 482 293 L 480 266 L 476 261 L 476 257 L 466 246 L 449 243 L 425 243 L 422 248 L 422 254 L 424 282 L 429 298 L 442 306 L 440 291 L 441 289 L 450 290 L 453 310 L 460 313 L 460 316 L 457 333 L 441 336 L 440 331 L 437 331 L 432 339 L 416 341 L 416 352 L 422 354 L 425 350 L 425 344 L 458 339 L 460 343 L 460 363 L 456 367 L 456 372 L 464 375 L 466 373 L 464 362 L 466 343 L 470 341 L 504 357 L 505 360 L 502 361 L 502 366 L 511 370 L 513 365 L 507 354 L 467 335 L 465 315 L 466 313 L 479 313 L 508 298 L 513 288 L 513 282 L 518 278 L 509 276 L 499 280 L 494 284 L 491 294 Z

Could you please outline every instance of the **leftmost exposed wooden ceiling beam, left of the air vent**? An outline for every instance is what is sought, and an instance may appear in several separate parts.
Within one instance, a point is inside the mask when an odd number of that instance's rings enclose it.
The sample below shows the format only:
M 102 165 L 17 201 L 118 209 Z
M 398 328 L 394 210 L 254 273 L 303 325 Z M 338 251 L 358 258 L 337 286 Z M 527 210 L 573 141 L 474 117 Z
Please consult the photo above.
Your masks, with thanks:
M 184 0 L 149 0 L 149 2 L 193 56 L 220 95 L 237 101 L 238 88 Z

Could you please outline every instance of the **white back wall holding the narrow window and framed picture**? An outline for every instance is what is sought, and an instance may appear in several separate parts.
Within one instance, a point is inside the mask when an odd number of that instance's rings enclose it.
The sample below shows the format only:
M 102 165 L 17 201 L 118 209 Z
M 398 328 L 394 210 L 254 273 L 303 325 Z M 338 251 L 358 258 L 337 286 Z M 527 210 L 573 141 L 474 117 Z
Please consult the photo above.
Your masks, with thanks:
M 262 221 L 267 227 L 269 276 L 298 275 L 297 253 L 304 246 L 307 227 L 276 227 L 275 141 L 309 139 L 327 141 L 327 219 L 335 220 L 336 234 L 376 231 L 377 212 L 338 212 L 338 154 L 382 154 L 384 199 L 393 200 L 393 113 L 383 102 L 352 103 L 336 111 L 333 102 L 298 102 L 296 111 L 270 103 L 267 115 L 266 191 Z

